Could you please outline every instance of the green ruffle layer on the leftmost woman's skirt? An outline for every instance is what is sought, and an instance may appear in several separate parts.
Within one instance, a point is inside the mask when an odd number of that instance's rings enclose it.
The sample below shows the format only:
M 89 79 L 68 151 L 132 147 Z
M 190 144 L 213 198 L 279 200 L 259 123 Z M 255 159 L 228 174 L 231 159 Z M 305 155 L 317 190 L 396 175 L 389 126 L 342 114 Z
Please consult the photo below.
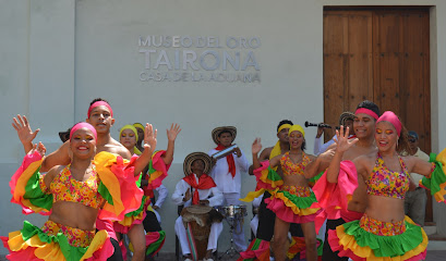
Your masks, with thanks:
M 23 240 L 28 240 L 33 236 L 37 235 L 40 241 L 50 244 L 55 241 L 59 244 L 59 247 L 65 257 L 67 261 L 79 261 L 85 254 L 88 247 L 73 247 L 68 243 L 68 238 L 62 233 L 58 233 L 56 236 L 49 236 L 43 232 L 39 227 L 31 224 L 27 221 L 23 222 L 23 228 L 21 231 Z

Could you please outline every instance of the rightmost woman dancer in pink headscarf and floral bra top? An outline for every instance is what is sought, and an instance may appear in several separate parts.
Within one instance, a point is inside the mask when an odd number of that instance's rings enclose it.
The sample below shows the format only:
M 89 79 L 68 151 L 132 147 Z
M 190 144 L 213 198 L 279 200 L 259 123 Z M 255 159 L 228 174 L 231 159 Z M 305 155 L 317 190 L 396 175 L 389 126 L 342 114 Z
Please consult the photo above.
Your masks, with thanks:
M 341 127 L 340 132 L 337 132 L 336 153 L 327 170 L 327 175 L 336 179 L 342 153 L 355 142 L 349 140 L 348 135 L 348 128 L 343 132 Z M 339 256 L 353 260 L 424 260 L 426 234 L 405 216 L 403 203 L 410 184 L 409 173 L 415 172 L 424 176 L 433 174 L 435 179 L 441 178 L 443 183 L 446 182 L 446 176 L 438 165 L 438 170 L 435 170 L 435 164 L 412 156 L 400 156 L 400 152 L 408 148 L 407 130 L 398 116 L 390 111 L 383 113 L 376 121 L 375 141 L 378 151 L 354 159 L 352 165 L 366 185 L 365 213 L 361 220 L 330 231 L 329 245 L 333 250 L 339 251 Z

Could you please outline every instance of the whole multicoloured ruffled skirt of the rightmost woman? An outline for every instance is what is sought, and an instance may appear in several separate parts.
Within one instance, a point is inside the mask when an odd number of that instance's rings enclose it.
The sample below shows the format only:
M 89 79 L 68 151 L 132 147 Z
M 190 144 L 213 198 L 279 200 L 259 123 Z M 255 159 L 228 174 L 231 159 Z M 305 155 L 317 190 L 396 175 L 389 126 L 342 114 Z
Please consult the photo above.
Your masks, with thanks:
M 389 223 L 364 214 L 359 221 L 329 231 L 328 243 L 340 257 L 354 261 L 415 261 L 425 259 L 427 236 L 408 216 Z

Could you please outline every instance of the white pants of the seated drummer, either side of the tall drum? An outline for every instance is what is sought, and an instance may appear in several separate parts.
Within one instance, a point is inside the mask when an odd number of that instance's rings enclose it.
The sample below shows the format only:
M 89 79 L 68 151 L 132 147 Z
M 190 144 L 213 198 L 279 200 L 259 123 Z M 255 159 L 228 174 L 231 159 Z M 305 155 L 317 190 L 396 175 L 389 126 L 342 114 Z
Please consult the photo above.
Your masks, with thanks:
M 222 222 L 214 222 L 210 225 L 209 239 L 207 240 L 207 250 L 217 250 L 217 241 L 222 231 Z M 188 235 L 185 233 L 185 227 L 183 224 L 183 217 L 179 216 L 174 222 L 174 232 L 177 233 L 178 239 L 180 240 L 181 251 L 183 256 L 191 253 L 189 248 Z

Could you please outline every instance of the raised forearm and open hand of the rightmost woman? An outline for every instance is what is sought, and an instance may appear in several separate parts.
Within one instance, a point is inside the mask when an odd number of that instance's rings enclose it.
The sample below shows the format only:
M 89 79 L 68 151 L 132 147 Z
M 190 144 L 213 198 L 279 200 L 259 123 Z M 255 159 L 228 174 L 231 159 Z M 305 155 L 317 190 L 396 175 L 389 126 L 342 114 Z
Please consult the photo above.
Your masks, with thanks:
M 329 183 L 337 183 L 338 175 L 339 175 L 339 167 L 340 162 L 342 161 L 343 152 L 350 149 L 355 142 L 358 142 L 358 138 L 353 140 L 349 140 L 349 127 L 347 127 L 346 132 L 343 132 L 343 126 L 340 126 L 339 130 L 336 130 L 337 144 L 336 152 L 333 156 L 333 159 L 327 169 L 327 181 Z

